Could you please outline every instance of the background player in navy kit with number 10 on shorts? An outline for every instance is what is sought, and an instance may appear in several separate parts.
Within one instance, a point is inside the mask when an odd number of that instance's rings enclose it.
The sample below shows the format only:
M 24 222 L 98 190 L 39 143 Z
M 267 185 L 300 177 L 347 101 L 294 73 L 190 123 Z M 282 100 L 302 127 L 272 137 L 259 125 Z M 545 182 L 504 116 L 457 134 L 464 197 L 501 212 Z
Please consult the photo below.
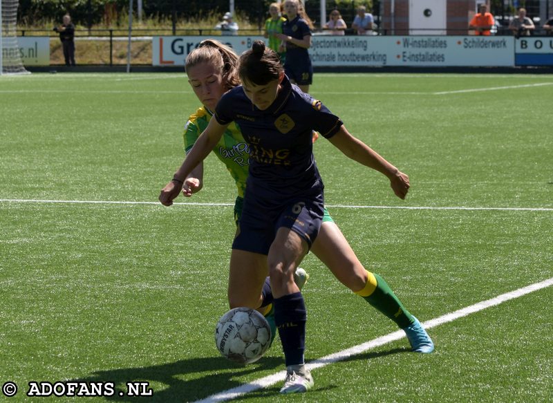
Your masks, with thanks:
M 298 0 L 286 0 L 284 12 L 287 20 L 282 25 L 282 33 L 276 35 L 286 48 L 284 72 L 292 84 L 297 84 L 301 91 L 309 93 L 309 86 L 313 82 L 313 66 L 308 53 L 311 28 L 299 13 Z

